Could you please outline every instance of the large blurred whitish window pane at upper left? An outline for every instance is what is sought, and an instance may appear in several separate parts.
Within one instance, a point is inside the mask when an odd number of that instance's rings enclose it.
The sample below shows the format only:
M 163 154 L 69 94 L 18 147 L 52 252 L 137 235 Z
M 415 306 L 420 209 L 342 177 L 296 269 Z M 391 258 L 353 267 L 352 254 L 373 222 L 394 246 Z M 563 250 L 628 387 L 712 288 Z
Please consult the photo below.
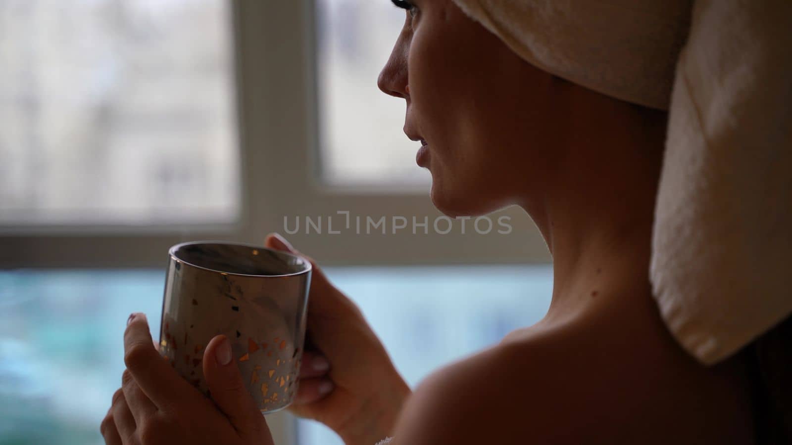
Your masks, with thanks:
M 0 224 L 230 222 L 230 2 L 0 2 Z

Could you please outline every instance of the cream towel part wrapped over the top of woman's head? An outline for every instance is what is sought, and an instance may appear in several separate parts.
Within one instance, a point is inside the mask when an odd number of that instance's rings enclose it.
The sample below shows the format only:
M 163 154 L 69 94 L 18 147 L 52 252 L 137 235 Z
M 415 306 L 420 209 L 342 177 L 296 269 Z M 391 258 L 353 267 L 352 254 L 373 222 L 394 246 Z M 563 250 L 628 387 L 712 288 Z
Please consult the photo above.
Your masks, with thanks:
M 455 0 L 531 65 L 668 109 L 692 0 Z

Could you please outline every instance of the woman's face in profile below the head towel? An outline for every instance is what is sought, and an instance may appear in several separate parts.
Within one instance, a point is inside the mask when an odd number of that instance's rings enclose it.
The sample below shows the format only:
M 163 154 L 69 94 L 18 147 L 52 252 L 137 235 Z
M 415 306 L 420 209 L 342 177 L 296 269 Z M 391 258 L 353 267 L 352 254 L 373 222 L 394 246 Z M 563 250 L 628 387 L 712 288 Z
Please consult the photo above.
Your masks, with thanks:
M 554 79 L 451 0 L 394 3 L 406 21 L 378 85 L 406 100 L 404 131 L 425 143 L 417 162 L 432 173 L 433 203 L 451 216 L 521 203 L 551 171 Z

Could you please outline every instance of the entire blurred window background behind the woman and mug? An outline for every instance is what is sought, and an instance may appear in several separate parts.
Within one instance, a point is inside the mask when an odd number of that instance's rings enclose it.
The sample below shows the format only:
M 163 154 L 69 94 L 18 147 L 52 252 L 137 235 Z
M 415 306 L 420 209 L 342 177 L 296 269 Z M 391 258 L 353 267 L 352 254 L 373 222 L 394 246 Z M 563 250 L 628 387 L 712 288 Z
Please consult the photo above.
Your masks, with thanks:
M 376 86 L 404 19 L 388 0 L 0 0 L 0 444 L 103 443 L 126 318 L 158 333 L 177 242 L 286 234 L 411 386 L 543 317 L 522 211 L 490 217 L 508 233 L 432 224 L 404 101 Z M 341 443 L 268 421 L 279 445 Z

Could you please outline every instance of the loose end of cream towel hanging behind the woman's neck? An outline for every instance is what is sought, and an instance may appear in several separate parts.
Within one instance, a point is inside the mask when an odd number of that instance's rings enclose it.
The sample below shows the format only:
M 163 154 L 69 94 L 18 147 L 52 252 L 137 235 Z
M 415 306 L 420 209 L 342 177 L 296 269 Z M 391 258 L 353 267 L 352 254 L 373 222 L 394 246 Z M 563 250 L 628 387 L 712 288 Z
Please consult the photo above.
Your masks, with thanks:
M 792 2 L 699 0 L 676 70 L 650 271 L 702 363 L 792 313 Z

